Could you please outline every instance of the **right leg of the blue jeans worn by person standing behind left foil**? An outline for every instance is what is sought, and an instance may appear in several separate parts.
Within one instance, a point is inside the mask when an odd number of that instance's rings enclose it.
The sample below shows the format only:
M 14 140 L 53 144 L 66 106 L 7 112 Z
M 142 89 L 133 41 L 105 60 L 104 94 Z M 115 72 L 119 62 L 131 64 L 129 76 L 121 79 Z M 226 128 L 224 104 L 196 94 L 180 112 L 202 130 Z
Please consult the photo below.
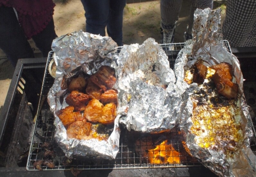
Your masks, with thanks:
M 107 34 L 110 36 L 118 46 L 123 43 L 123 9 L 126 0 L 110 0 L 110 12 L 107 23 Z

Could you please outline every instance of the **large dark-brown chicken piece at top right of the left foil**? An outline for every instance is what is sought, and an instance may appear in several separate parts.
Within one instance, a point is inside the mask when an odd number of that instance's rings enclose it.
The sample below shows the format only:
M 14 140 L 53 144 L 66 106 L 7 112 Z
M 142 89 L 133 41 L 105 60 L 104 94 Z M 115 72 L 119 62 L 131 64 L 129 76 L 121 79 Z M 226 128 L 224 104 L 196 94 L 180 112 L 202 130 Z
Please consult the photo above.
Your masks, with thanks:
M 102 66 L 95 74 L 91 75 L 90 79 L 105 92 L 115 84 L 115 71 L 109 66 Z

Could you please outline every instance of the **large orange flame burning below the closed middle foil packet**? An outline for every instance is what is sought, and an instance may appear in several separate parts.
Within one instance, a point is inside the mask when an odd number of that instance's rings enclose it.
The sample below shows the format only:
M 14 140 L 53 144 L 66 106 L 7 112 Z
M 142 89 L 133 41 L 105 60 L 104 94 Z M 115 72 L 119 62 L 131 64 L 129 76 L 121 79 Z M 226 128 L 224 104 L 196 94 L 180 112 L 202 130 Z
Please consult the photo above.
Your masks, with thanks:
M 167 142 L 168 140 L 165 140 L 160 145 L 157 145 L 155 149 L 148 150 L 147 156 L 150 164 L 180 163 L 179 152 Z

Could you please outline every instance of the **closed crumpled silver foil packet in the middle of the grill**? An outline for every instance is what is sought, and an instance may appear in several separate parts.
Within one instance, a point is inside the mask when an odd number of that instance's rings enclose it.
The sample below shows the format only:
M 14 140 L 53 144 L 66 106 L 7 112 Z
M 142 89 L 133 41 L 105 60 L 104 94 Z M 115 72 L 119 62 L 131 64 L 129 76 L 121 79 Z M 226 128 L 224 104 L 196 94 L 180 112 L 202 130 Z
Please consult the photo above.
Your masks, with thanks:
M 121 124 L 129 131 L 143 133 L 159 133 L 175 126 L 181 97 L 176 94 L 168 57 L 153 38 L 142 45 L 124 45 L 113 67 L 119 76 Z

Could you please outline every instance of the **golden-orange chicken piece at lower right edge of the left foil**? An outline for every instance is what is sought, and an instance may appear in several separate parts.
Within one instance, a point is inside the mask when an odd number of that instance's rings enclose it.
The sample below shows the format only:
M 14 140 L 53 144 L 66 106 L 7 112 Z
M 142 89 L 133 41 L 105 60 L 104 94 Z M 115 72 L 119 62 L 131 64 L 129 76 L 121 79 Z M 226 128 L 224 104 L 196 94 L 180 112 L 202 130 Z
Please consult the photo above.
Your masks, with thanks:
M 106 104 L 101 112 L 101 117 L 99 118 L 99 123 L 104 125 L 114 124 L 116 117 L 116 105 L 114 103 Z

